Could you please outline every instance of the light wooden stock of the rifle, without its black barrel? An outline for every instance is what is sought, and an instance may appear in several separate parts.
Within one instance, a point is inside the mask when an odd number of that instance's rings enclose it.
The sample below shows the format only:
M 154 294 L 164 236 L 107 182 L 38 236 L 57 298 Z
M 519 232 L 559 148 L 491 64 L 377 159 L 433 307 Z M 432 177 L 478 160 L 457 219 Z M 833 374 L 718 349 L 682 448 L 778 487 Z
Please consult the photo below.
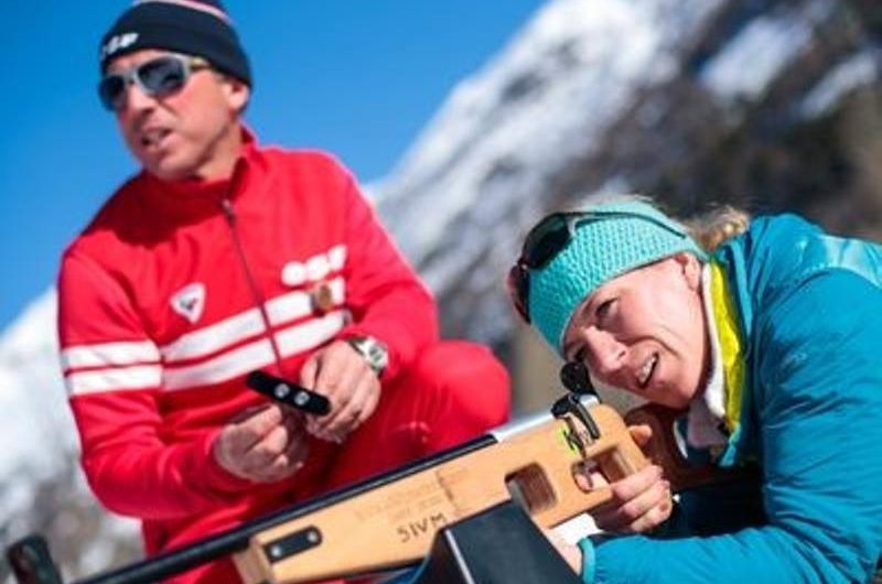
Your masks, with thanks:
M 589 409 L 596 440 L 571 414 L 548 419 L 501 442 L 267 529 L 234 556 L 246 584 L 332 580 L 419 562 L 434 533 L 515 498 L 542 527 L 553 527 L 610 499 L 582 490 L 573 473 L 594 461 L 615 480 L 648 461 L 622 418 Z

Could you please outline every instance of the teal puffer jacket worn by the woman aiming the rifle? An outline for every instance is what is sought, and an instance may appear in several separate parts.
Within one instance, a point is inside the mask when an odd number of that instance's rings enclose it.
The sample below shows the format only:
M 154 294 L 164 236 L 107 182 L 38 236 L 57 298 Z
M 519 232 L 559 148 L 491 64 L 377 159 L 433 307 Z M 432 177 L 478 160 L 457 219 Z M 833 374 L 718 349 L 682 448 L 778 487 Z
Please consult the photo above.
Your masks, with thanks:
M 714 257 L 747 366 L 728 454 L 759 464 L 761 519 L 731 489 L 706 490 L 684 522 L 723 532 L 584 540 L 583 580 L 869 582 L 882 553 L 882 248 L 784 215 L 754 219 Z

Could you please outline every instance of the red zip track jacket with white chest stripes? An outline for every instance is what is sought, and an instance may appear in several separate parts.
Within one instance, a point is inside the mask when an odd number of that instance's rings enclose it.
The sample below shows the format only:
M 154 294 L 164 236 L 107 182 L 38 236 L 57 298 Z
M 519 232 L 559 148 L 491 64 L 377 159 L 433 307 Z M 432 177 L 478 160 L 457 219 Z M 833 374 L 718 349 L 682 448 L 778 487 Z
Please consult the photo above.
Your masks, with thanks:
M 149 553 L 314 494 L 333 461 L 322 443 L 290 479 L 256 485 L 211 455 L 222 425 L 262 402 L 243 383 L 275 363 L 258 305 L 292 379 L 316 347 L 367 334 L 389 348 L 385 382 L 438 336 L 430 293 L 351 174 L 250 136 L 229 181 L 130 180 L 64 255 L 83 466 L 106 507 L 143 520 Z

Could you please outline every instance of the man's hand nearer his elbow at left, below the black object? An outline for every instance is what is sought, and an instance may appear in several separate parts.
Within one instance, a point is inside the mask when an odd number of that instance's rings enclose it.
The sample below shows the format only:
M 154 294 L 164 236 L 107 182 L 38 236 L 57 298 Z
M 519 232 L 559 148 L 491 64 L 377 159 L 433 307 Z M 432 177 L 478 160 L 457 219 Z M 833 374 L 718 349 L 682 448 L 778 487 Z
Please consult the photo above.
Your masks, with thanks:
M 309 454 L 302 423 L 278 404 L 246 411 L 224 426 L 212 445 L 217 464 L 256 483 L 293 475 Z

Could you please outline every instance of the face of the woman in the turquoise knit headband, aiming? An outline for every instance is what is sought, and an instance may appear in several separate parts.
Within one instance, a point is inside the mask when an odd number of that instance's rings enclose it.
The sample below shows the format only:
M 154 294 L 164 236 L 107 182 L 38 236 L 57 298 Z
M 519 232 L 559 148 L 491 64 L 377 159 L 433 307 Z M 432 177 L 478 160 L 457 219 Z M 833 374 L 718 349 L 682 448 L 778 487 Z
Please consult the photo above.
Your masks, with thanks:
M 706 331 L 701 264 L 679 253 L 598 288 L 573 313 L 564 355 L 594 379 L 684 408 L 707 381 Z

